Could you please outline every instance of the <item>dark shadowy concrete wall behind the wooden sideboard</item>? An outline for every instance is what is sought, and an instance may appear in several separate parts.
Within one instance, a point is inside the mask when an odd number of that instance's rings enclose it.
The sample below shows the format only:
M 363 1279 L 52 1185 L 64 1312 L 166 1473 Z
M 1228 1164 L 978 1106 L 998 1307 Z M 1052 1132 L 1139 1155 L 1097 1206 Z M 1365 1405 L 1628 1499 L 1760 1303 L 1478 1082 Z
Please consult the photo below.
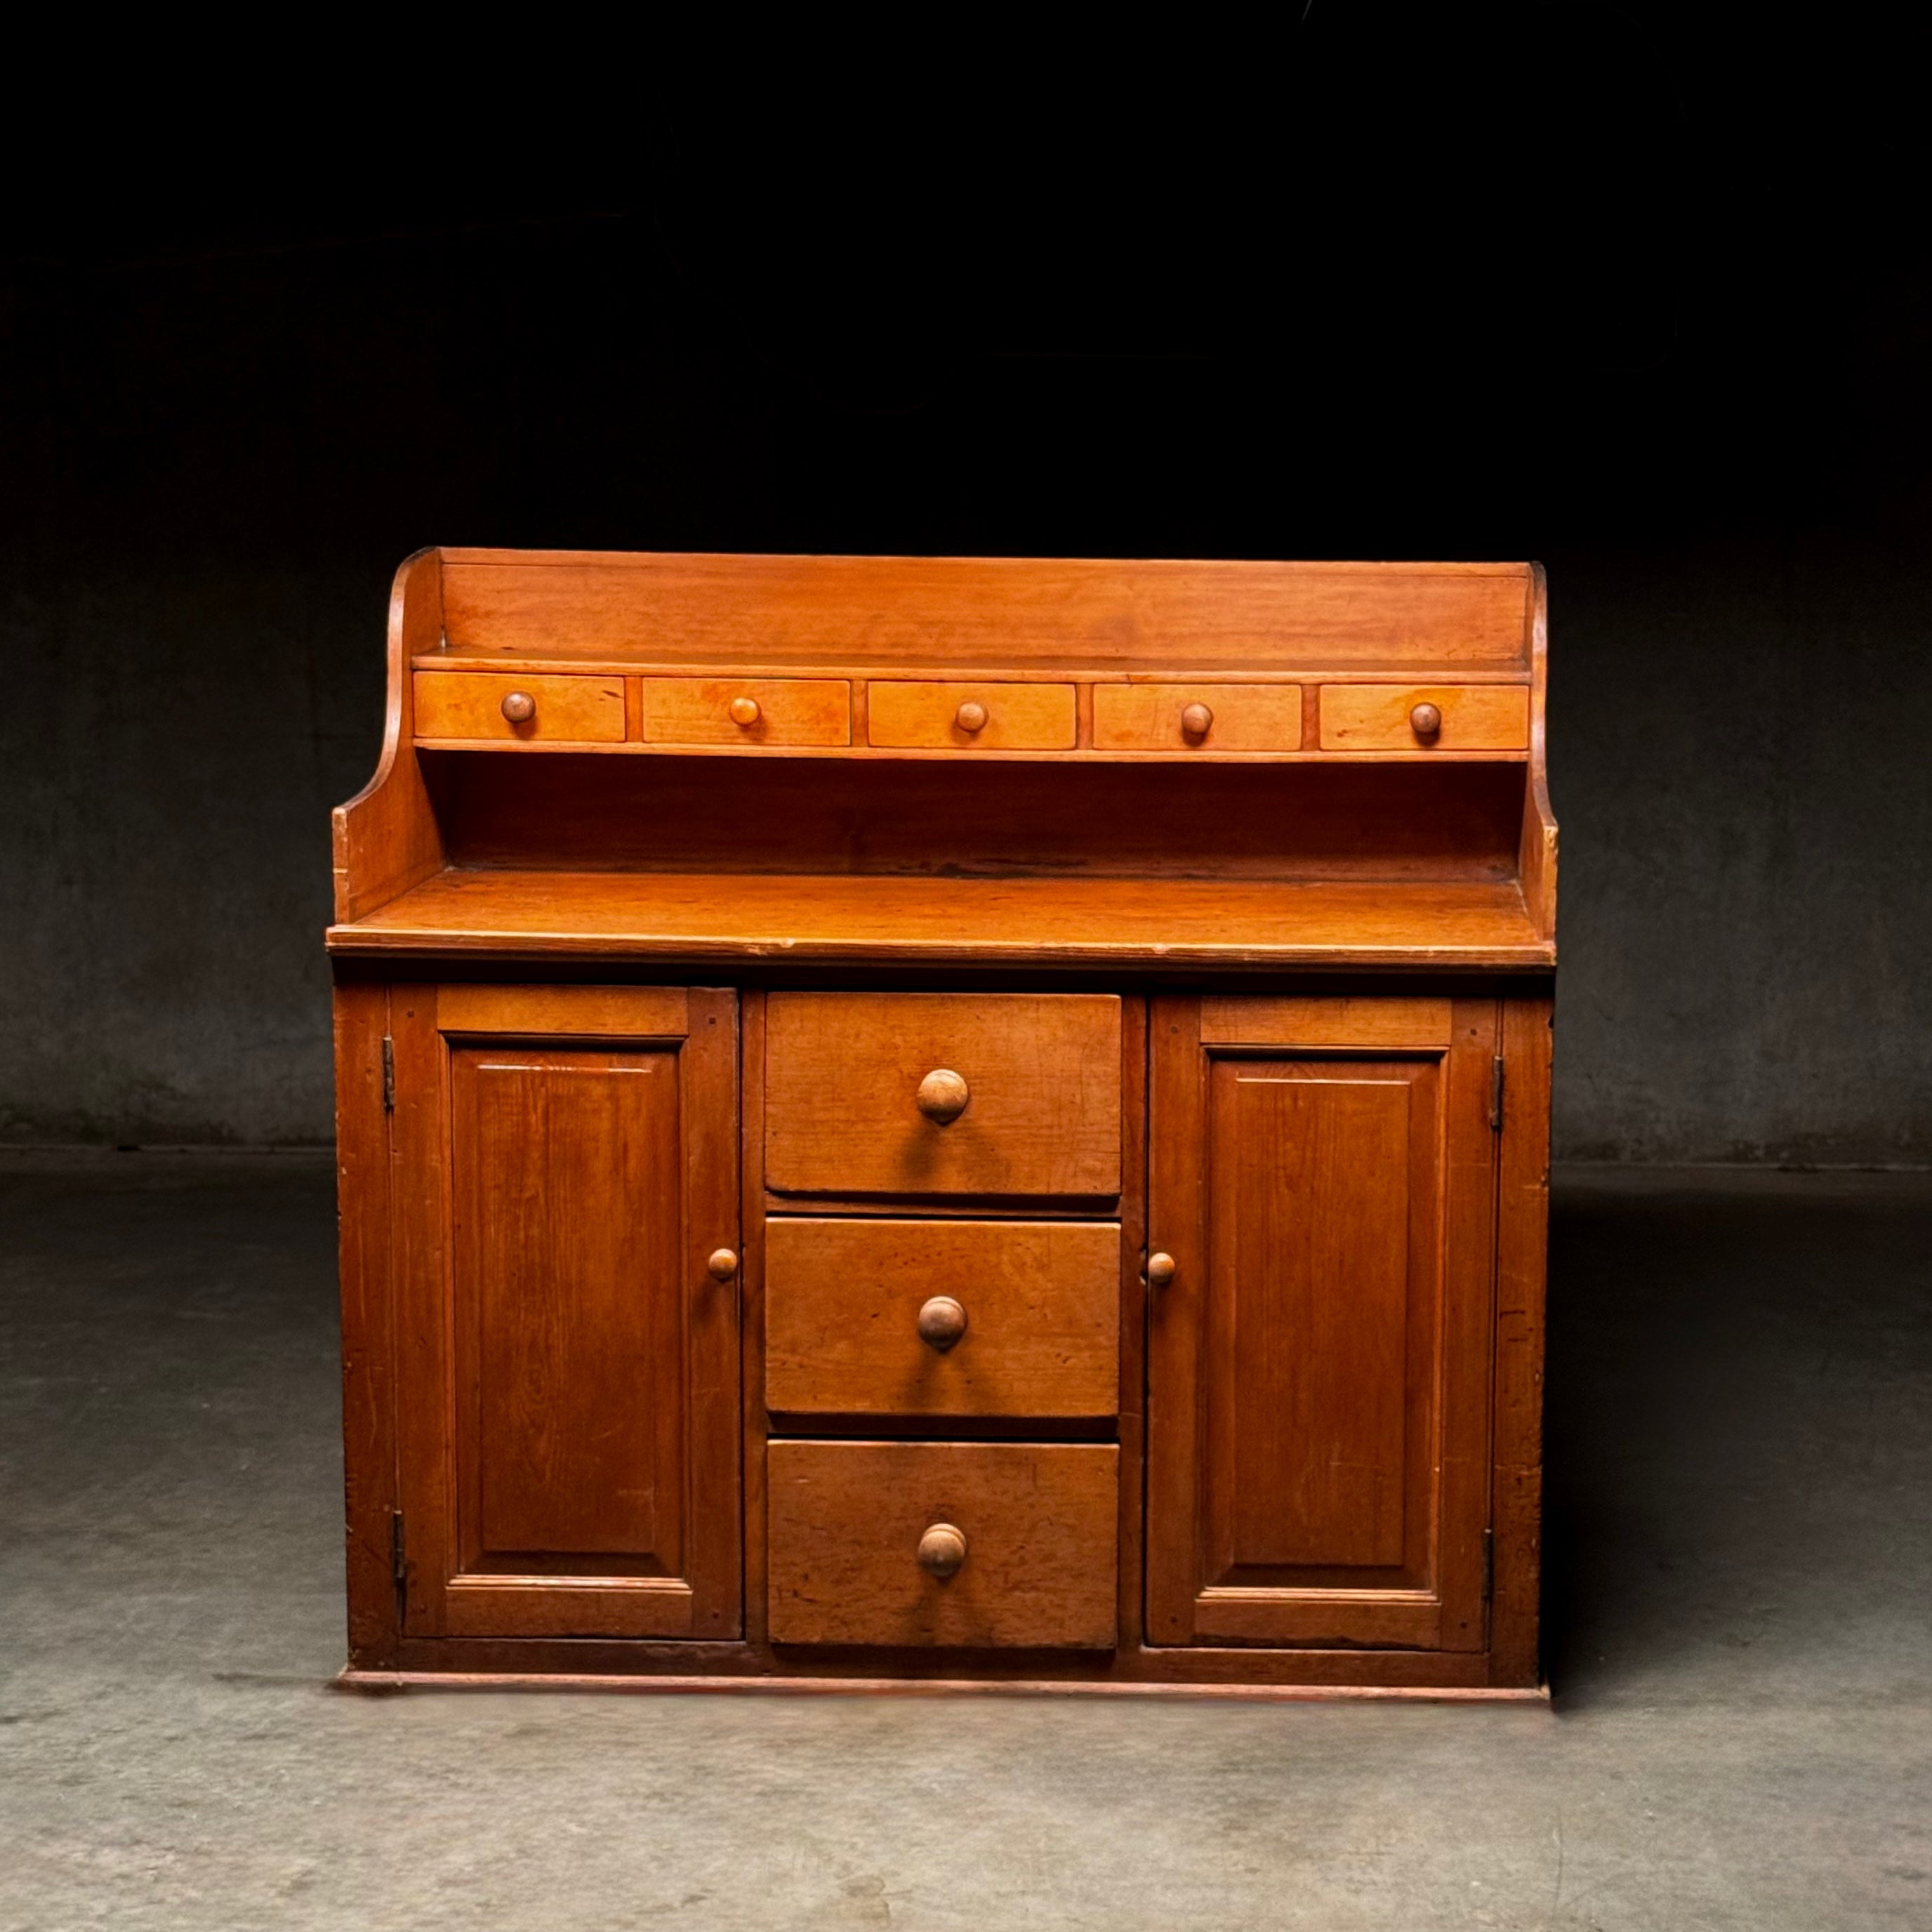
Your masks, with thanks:
M 452 543 L 1540 558 L 1557 1151 L 1932 1159 L 1882 17 L 135 48 L 44 116 L 21 68 L 0 1138 L 328 1138 L 327 810 Z

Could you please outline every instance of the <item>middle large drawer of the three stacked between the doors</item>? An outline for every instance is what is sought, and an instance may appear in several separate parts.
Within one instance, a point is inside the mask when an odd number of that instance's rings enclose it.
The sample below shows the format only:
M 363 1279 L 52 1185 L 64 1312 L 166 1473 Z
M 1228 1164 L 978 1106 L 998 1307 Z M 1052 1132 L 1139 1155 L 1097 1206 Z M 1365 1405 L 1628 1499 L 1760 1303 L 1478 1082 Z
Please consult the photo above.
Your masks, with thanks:
M 765 1405 L 782 1414 L 1111 1416 L 1113 1221 L 765 1223 Z

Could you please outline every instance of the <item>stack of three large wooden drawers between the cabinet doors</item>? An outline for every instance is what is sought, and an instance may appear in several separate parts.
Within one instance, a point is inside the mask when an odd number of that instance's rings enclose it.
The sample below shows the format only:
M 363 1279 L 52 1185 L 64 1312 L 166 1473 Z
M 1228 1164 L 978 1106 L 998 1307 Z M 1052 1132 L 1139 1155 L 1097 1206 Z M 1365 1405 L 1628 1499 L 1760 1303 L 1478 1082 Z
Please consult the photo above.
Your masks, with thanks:
M 1113 1648 L 1121 1001 L 773 993 L 765 1186 L 771 1640 Z

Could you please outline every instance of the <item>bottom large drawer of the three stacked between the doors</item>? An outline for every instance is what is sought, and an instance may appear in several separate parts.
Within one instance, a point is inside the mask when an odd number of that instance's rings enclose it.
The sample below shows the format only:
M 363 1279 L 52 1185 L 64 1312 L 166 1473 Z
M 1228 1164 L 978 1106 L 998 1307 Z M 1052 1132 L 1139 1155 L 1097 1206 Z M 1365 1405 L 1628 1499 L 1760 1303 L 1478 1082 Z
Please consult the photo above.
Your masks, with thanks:
M 767 1453 L 775 1644 L 1115 1646 L 1113 1443 Z

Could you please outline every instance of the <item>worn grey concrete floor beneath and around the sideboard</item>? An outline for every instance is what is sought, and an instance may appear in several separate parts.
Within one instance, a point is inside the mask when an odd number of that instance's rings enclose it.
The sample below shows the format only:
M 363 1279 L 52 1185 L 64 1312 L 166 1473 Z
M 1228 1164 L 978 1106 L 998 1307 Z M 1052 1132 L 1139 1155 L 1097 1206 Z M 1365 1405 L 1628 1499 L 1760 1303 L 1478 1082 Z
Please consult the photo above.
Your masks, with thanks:
M 1584 1173 L 1555 1708 L 412 1694 L 330 1171 L 0 1155 L 0 1926 L 1932 1926 L 1932 1182 Z

